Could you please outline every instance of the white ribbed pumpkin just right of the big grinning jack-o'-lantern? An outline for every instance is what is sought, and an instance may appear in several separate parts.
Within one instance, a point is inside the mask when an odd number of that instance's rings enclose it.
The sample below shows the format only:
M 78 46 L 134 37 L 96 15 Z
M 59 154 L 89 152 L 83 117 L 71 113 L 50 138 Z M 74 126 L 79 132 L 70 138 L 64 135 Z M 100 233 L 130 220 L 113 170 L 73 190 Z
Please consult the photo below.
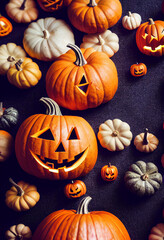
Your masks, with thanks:
M 98 139 L 102 147 L 109 151 L 121 151 L 132 140 L 130 126 L 120 119 L 107 120 L 99 126 Z

